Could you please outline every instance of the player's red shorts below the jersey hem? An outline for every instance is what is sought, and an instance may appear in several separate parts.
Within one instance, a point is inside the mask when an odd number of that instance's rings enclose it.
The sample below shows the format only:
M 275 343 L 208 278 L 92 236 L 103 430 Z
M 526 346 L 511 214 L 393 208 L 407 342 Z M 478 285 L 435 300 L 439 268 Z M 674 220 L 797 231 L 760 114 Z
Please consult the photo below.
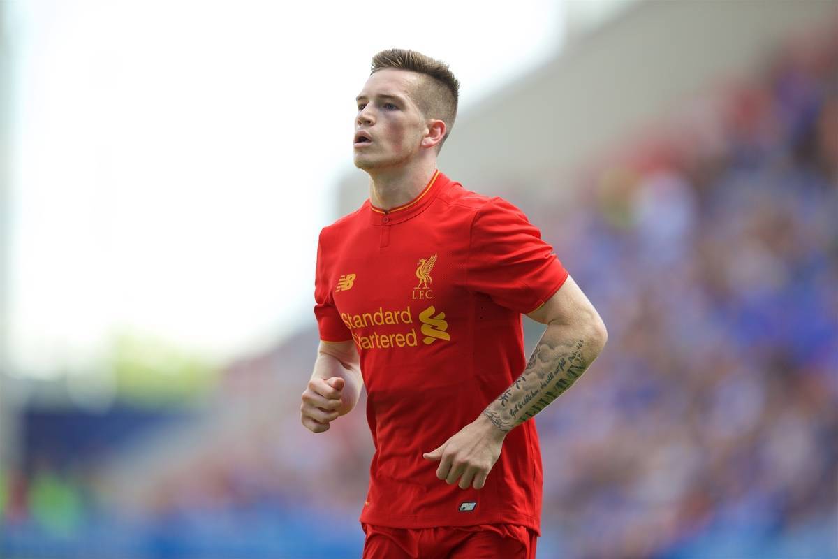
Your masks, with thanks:
M 535 559 L 535 531 L 520 525 L 388 528 L 361 523 L 363 559 Z

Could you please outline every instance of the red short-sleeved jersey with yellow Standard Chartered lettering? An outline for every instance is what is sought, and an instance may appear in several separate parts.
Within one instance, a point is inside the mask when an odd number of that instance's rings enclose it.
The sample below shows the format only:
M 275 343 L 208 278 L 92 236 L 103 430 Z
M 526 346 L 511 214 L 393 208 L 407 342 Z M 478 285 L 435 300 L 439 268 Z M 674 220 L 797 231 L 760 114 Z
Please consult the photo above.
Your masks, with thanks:
M 422 458 L 524 370 L 521 313 L 567 272 L 525 215 L 438 171 L 410 204 L 367 200 L 320 233 L 320 338 L 354 339 L 375 455 L 360 520 L 398 528 L 519 524 L 539 531 L 535 422 L 506 437 L 484 489 L 437 479 Z

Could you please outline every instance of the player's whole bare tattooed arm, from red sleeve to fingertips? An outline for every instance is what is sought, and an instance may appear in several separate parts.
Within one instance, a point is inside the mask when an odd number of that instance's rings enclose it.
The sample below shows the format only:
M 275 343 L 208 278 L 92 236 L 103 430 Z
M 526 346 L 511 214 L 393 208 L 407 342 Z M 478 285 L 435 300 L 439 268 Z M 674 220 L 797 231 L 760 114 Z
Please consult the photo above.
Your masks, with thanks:
M 591 365 L 608 339 L 603 319 L 572 277 L 527 314 L 547 328 L 524 372 L 473 422 L 425 458 L 439 460 L 437 478 L 481 489 L 500 456 L 506 433 L 534 417 Z

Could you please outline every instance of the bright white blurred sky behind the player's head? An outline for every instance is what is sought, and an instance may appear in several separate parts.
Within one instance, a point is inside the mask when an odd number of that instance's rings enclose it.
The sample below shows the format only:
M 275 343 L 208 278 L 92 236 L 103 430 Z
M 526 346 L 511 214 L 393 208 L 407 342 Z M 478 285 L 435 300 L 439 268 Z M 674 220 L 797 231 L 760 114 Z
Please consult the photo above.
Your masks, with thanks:
M 566 35 L 551 0 L 4 8 L 8 359 L 42 377 L 120 334 L 224 360 L 307 323 L 371 54 L 444 54 L 467 112 Z

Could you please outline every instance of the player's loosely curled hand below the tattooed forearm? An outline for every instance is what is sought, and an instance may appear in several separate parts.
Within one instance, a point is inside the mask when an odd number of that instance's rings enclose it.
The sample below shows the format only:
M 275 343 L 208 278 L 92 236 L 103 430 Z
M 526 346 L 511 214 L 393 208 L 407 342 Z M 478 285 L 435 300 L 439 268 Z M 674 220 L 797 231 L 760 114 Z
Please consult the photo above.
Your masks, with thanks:
M 483 489 L 486 476 L 498 461 L 506 433 L 495 427 L 484 415 L 467 426 L 430 453 L 422 455 L 427 460 L 439 461 L 437 478 L 447 484 L 457 483 L 460 489 Z

